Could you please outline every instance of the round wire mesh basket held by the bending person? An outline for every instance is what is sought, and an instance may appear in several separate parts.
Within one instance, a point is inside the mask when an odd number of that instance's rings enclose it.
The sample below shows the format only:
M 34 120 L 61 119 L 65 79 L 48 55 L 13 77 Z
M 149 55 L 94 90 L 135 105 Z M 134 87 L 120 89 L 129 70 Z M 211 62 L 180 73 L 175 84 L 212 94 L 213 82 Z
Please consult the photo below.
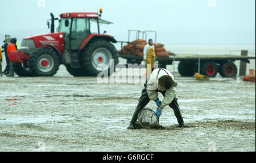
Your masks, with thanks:
M 142 127 L 155 127 L 159 124 L 159 119 L 155 112 L 149 108 L 144 108 L 139 112 L 138 122 Z

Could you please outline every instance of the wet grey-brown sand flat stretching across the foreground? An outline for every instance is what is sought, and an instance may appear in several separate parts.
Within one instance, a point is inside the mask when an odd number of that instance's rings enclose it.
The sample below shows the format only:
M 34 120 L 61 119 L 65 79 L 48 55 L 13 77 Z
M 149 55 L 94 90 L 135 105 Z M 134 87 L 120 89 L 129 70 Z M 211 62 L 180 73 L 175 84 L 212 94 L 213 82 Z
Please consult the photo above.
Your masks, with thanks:
M 162 128 L 128 130 L 143 83 L 100 84 L 62 65 L 54 77 L 2 77 L 0 151 L 255 151 L 255 82 L 175 78 L 189 127 L 166 107 Z

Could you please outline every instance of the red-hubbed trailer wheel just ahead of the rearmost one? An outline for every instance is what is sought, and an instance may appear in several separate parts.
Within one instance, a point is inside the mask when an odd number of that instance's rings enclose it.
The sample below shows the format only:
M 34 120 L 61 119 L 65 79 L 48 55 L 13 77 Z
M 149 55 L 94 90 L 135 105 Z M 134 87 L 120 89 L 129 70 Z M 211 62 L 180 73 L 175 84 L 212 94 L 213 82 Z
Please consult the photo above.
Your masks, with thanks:
M 215 77 L 218 73 L 218 66 L 216 62 L 213 61 L 205 62 L 203 66 L 201 66 L 200 72 L 205 76 Z

